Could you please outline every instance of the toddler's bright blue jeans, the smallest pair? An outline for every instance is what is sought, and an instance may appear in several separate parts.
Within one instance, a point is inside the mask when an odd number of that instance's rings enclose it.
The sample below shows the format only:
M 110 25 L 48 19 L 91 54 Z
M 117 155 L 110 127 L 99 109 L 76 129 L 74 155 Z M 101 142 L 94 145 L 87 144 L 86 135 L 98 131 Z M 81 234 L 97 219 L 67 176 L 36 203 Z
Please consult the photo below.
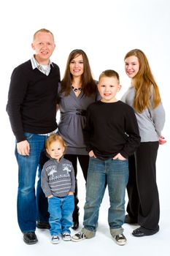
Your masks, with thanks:
M 74 211 L 74 195 L 66 197 L 51 197 L 48 199 L 48 211 L 50 212 L 50 234 L 60 236 L 70 233 L 72 226 L 72 214 Z

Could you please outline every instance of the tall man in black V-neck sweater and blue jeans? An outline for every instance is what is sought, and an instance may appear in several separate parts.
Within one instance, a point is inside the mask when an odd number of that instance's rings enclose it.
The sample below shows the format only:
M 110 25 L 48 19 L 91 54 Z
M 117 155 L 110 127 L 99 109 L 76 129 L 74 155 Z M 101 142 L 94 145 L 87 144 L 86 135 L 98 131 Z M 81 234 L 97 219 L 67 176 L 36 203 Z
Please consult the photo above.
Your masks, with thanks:
M 60 81 L 59 67 L 50 61 L 55 49 L 53 34 L 47 29 L 36 31 L 31 46 L 35 55 L 12 72 L 7 102 L 19 170 L 18 225 L 26 244 L 38 241 L 36 225 L 49 227 L 47 211 L 43 211 L 47 200 L 40 181 L 35 196 L 35 180 L 37 168 L 41 172 L 45 140 L 58 129 L 55 117 Z

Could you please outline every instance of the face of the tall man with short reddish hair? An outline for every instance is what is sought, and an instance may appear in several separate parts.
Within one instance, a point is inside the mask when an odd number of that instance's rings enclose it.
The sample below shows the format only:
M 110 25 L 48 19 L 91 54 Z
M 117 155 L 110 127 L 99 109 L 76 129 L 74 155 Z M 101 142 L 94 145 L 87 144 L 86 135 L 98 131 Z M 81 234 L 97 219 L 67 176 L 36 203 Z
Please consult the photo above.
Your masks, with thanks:
M 36 61 L 39 64 L 47 65 L 55 49 L 53 35 L 47 32 L 38 32 L 31 46 L 35 50 Z

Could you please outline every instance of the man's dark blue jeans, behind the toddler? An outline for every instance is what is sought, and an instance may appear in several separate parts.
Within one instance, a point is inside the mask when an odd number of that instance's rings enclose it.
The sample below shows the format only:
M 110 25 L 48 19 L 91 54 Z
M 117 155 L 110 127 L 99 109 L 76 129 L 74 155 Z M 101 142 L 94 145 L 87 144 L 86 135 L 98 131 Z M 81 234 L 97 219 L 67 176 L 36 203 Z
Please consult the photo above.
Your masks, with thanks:
M 18 154 L 15 148 L 15 156 L 18 161 L 18 224 L 23 233 L 34 232 L 36 219 L 48 222 L 47 198 L 41 188 L 42 154 L 45 154 L 46 135 L 25 133 L 30 145 L 28 157 Z M 36 170 L 38 170 L 39 181 L 35 189 Z M 36 192 L 35 192 L 36 190 Z

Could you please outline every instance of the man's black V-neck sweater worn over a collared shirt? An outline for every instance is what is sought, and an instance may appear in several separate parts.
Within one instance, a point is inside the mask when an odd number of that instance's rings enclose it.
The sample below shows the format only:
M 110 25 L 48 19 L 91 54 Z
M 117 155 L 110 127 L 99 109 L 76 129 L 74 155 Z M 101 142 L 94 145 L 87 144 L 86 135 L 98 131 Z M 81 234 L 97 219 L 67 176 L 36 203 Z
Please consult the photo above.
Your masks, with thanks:
M 47 76 L 33 69 L 31 60 L 16 67 L 9 86 L 7 113 L 18 142 L 24 132 L 45 134 L 55 130 L 59 67 L 53 63 Z

